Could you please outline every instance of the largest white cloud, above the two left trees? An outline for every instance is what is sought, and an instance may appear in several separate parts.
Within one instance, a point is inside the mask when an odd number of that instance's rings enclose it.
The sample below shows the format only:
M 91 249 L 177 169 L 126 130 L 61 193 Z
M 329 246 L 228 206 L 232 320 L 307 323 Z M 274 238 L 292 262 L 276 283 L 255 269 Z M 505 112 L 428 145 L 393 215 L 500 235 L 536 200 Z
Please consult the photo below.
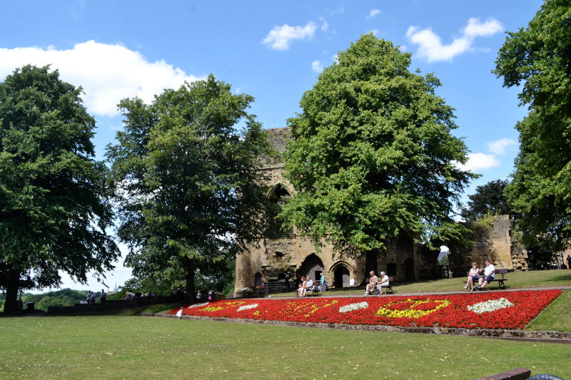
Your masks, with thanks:
M 149 62 L 138 51 L 125 46 L 86 41 L 74 48 L 0 48 L 0 78 L 26 64 L 58 69 L 63 81 L 84 88 L 84 103 L 89 113 L 118 115 L 122 98 L 138 96 L 151 102 L 164 88 L 178 88 L 185 81 L 196 81 L 165 61 Z

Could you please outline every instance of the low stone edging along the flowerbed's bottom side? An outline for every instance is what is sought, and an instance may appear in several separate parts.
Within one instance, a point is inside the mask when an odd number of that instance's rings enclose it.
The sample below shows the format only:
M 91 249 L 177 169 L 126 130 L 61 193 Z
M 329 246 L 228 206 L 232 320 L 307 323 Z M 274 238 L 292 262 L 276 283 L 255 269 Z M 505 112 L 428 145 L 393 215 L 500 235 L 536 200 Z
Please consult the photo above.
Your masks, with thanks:
M 172 314 L 141 313 L 141 317 L 173 318 Z M 465 329 L 463 327 L 405 327 L 388 326 L 385 324 L 340 324 L 321 322 L 291 322 L 271 321 L 265 319 L 241 319 L 226 317 L 200 317 L 195 315 L 183 315 L 182 319 L 194 319 L 198 321 L 233 322 L 248 324 L 269 324 L 273 326 L 289 327 L 312 327 L 315 329 L 338 329 L 367 332 L 408 332 L 414 334 L 457 335 L 460 337 L 501 338 L 516 340 L 532 340 L 537 342 L 561 342 L 571 344 L 571 332 L 555 331 L 525 331 L 510 329 Z

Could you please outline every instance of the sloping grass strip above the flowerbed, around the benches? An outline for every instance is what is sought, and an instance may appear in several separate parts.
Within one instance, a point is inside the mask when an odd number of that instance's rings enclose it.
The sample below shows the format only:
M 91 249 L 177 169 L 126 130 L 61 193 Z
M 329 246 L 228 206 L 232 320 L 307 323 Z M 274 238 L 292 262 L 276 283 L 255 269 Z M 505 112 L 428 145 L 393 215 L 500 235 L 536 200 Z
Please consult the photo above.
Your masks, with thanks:
M 501 277 L 501 274 L 498 274 Z M 512 272 L 504 275 L 507 278 L 505 282 L 507 289 L 510 288 L 532 288 L 532 287 L 558 287 L 571 285 L 571 269 L 565 270 L 537 270 L 529 272 Z M 464 283 L 462 283 L 464 281 Z M 395 282 L 393 290 L 395 294 L 408 292 L 438 292 L 440 290 L 458 290 L 462 291 L 466 284 L 466 277 L 458 277 L 453 279 L 433 279 L 418 282 Z M 490 289 L 497 289 L 497 282 L 488 285 Z M 330 297 L 351 294 L 363 294 L 364 288 L 357 287 L 332 289 L 327 294 Z M 295 297 L 295 292 L 274 294 L 273 297 L 287 295 Z

